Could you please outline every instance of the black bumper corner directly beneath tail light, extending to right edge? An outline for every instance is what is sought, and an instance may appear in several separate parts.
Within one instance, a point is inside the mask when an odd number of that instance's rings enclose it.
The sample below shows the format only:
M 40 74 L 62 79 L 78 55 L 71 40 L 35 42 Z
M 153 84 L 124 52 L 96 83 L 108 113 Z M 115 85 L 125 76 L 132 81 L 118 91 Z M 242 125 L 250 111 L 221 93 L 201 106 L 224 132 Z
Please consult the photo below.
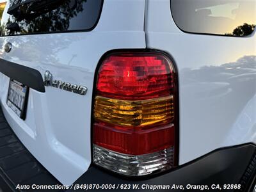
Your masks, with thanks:
M 188 184 L 207 184 L 210 189 L 207 191 L 218 191 L 211 189 L 212 184 L 240 184 L 245 170 L 252 163 L 252 157 L 255 154 L 256 146 L 252 143 L 239 145 L 235 147 L 220 148 L 202 156 L 195 161 L 186 163 L 172 172 L 149 179 L 127 179 L 111 172 L 106 172 L 96 166 L 91 166 L 75 184 L 153 184 L 153 185 L 173 185 L 182 184 L 184 187 Z M 249 180 L 248 180 L 249 181 Z M 250 184 L 248 184 L 250 185 Z M 79 191 L 79 190 L 76 190 Z M 83 190 L 80 190 L 83 191 Z M 94 191 L 94 190 L 90 190 Z M 95 191 L 106 191 L 106 189 L 97 189 Z M 115 189 L 113 191 L 127 191 L 124 189 Z M 138 189 L 134 191 L 147 191 Z M 154 191 L 163 191 L 156 189 Z M 168 191 L 168 190 L 167 190 Z M 183 190 L 174 190 L 183 191 Z M 200 190 L 184 190 L 200 191 Z M 235 189 L 223 190 L 235 191 Z M 239 191 L 244 191 L 243 189 Z M 245 192 L 245 191 L 244 191 Z M 247 192 L 247 191 L 246 191 Z

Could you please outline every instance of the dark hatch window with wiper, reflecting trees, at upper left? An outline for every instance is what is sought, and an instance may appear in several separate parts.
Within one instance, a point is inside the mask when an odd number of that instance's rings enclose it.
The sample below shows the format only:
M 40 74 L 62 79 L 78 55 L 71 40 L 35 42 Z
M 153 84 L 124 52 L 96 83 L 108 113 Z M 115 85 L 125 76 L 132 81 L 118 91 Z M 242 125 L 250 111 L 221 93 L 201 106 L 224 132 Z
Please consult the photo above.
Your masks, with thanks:
M 1 35 L 91 30 L 99 20 L 102 3 L 103 0 L 10 0 L 1 20 Z

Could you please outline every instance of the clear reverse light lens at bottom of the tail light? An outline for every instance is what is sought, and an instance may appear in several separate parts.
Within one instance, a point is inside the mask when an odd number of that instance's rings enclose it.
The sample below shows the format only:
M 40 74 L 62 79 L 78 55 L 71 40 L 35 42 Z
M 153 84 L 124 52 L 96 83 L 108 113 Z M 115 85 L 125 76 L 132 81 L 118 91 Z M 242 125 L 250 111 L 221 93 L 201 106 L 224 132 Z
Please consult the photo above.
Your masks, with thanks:
M 132 156 L 93 145 L 93 161 L 103 168 L 123 175 L 148 175 L 173 167 L 173 147 L 152 154 Z

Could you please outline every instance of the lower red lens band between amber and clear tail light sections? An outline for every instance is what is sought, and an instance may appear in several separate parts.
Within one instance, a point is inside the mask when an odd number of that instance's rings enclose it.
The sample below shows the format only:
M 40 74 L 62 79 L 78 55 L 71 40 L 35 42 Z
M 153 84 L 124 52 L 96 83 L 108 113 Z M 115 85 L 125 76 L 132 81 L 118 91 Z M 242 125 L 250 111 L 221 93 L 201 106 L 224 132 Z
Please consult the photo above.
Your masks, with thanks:
M 96 123 L 94 131 L 96 145 L 122 154 L 150 154 L 174 146 L 173 124 L 134 130 Z

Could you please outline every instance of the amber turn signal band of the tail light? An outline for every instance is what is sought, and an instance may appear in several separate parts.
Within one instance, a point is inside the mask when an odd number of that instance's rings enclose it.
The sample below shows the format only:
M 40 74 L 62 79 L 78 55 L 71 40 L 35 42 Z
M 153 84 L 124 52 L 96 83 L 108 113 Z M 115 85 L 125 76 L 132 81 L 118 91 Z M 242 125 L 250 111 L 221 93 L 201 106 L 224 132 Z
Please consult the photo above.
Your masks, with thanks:
M 148 100 L 118 100 L 97 96 L 96 120 L 126 127 L 168 124 L 173 120 L 173 96 Z

